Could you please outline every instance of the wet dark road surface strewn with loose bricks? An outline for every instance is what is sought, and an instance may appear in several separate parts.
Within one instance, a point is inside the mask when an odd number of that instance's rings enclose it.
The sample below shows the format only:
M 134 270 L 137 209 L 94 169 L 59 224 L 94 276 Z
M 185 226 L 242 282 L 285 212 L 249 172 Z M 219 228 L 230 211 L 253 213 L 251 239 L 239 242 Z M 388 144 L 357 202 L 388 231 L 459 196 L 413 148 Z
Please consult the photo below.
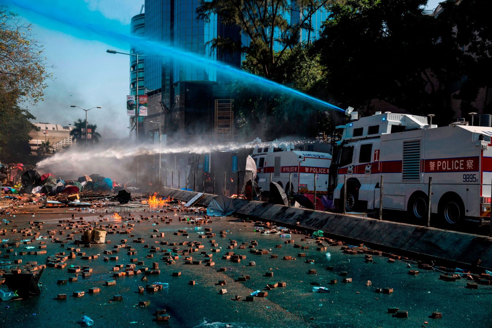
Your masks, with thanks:
M 128 216 L 122 212 L 122 208 L 108 209 L 109 213 L 103 213 L 109 221 L 102 224 L 116 223 L 111 217 L 112 212 L 118 211 L 123 217 Z M 58 220 L 69 219 L 73 211 L 66 213 L 42 214 L 41 217 L 31 217 L 28 214 L 18 214 L 15 218 L 7 217 L 13 222 L 10 226 L 1 225 L 0 229 L 12 229 L 12 225 L 18 228 L 28 227 L 30 220 L 42 220 L 45 222 L 41 229 L 41 235 L 45 236 L 47 230 L 57 229 Z M 285 238 L 277 234 L 260 234 L 254 232 L 254 224 L 242 222 L 235 217 L 225 219 L 215 218 L 212 224 L 203 225 L 212 228 L 217 235 L 213 238 L 218 246 L 211 247 L 210 239 L 199 238 L 195 226 L 178 221 L 178 216 L 163 213 L 143 212 L 132 209 L 138 216 L 169 215 L 173 218 L 171 224 L 161 223 L 157 218 L 135 223 L 132 234 L 108 234 L 106 240 L 110 244 L 92 245 L 81 251 L 88 255 L 100 254 L 97 259 L 82 260 L 80 256 L 76 259 L 66 261 L 70 265 L 90 266 L 93 271 L 87 278 L 79 276 L 77 282 L 68 282 L 58 285 L 58 279 L 67 279 L 74 273 L 68 273 L 66 268 L 46 268 L 40 282 L 43 284 L 43 293 L 35 298 L 27 300 L 16 300 L 0 302 L 1 327 L 35 327 L 41 325 L 57 325 L 58 327 L 85 327 L 82 317 L 87 315 L 94 321 L 93 327 L 491 327 L 492 313 L 490 306 L 492 301 L 492 285 L 479 285 L 479 289 L 466 288 L 466 279 L 455 282 L 447 282 L 439 279 L 440 272 L 417 268 L 416 264 L 407 267 L 407 262 L 396 260 L 389 263 L 387 257 L 373 255 L 373 262 L 365 261 L 365 254 L 344 254 L 340 246 L 327 245 L 326 250 L 316 250 L 314 239 L 306 239 L 303 235 L 292 235 L 294 243 L 285 243 Z M 76 217 L 84 217 L 87 221 L 98 220 L 99 212 L 81 213 Z M 179 215 L 183 216 L 183 213 Z M 198 216 L 203 217 L 203 216 Z M 155 225 L 153 225 L 155 224 Z M 59 227 L 58 227 L 59 228 Z M 150 238 L 155 235 L 154 229 L 164 232 L 164 238 Z M 189 236 L 175 236 L 174 232 L 179 229 L 187 229 Z M 122 230 L 122 229 L 120 229 Z M 226 230 L 226 237 L 220 237 L 219 231 Z M 10 230 L 9 230 L 10 231 Z M 19 234 L 2 236 L 2 239 L 10 239 L 10 242 L 19 237 Z M 80 239 L 80 234 L 75 237 Z M 59 236 L 57 236 L 59 237 Z M 62 237 L 62 236 L 60 236 Z M 134 243 L 133 239 L 142 237 L 145 242 Z M 127 245 L 137 250 L 136 255 L 127 255 L 122 249 L 116 254 L 117 261 L 105 262 L 104 250 L 113 249 L 114 245 L 120 243 L 121 239 L 128 239 Z M 227 249 L 230 239 L 237 241 L 234 249 Z M 256 240 L 258 245 L 255 250 L 267 250 L 268 254 L 256 255 L 250 253 L 248 248 L 251 241 Z M 160 245 L 160 241 L 183 242 L 201 241 L 204 249 L 193 252 L 189 256 L 194 261 L 205 260 L 201 251 L 210 254 L 212 248 L 220 249 L 212 253 L 215 266 L 207 267 L 205 262 L 200 265 L 187 265 L 183 257 L 176 260 L 175 265 L 167 265 L 162 260 L 162 253 L 149 253 L 150 245 L 165 248 L 171 246 Z M 156 243 L 157 242 L 157 243 Z M 239 249 L 243 243 L 248 243 L 245 249 Z M 5 242 L 4 242 L 5 243 Z M 63 244 L 49 242 L 47 240 L 48 255 L 64 251 L 72 247 L 71 241 Z M 308 246 L 308 249 L 294 248 L 295 244 Z M 37 245 L 34 243 L 33 245 Z M 281 245 L 277 248 L 276 245 Z M 20 245 L 20 251 L 26 245 Z M 180 249 L 185 246 L 177 246 Z M 5 248 L 1 249 L 2 251 Z M 231 260 L 223 260 L 226 252 L 246 255 L 240 263 Z M 327 261 L 326 252 L 331 254 Z M 299 253 L 306 253 L 306 257 L 300 257 Z M 5 252 L 2 252 L 5 254 Z M 12 253 L 10 253 L 12 254 Z M 153 254 L 154 258 L 146 258 Z M 277 258 L 271 258 L 271 255 Z M 0 255 L 2 256 L 2 255 Z M 110 255 L 108 255 L 110 256 Z M 284 260 L 284 256 L 292 256 L 295 260 Z M 37 261 L 44 264 L 47 255 L 23 255 L 10 260 L 22 258 L 23 262 Z M 143 274 L 122 276 L 113 278 L 112 268 L 115 264 L 130 264 L 130 258 L 138 258 L 145 264 L 137 268 L 152 268 L 153 262 L 158 262 L 161 270 L 158 275 L 148 275 L 149 282 L 140 279 Z M 9 259 L 1 259 L 3 261 Z M 307 263 L 307 260 L 314 260 Z M 249 262 L 254 261 L 254 266 Z M 327 270 L 333 267 L 333 270 Z M 219 271 L 226 268 L 226 271 Z M 316 270 L 315 274 L 308 274 L 309 270 Z M 409 275 L 410 269 L 419 270 L 418 275 Z M 173 276 L 173 272 L 181 272 L 180 276 Z M 346 271 L 346 276 L 340 276 L 341 271 Z M 273 272 L 273 276 L 266 273 Z M 243 275 L 250 275 L 246 281 L 238 281 Z M 351 283 L 342 282 L 344 278 L 352 278 Z M 105 286 L 105 281 L 116 280 L 115 286 Z M 331 280 L 337 279 L 338 283 L 330 284 Z M 195 285 L 189 281 L 194 280 Z M 225 286 L 216 285 L 218 281 L 225 280 Z M 367 286 L 368 280 L 371 286 Z M 146 287 L 153 282 L 168 283 L 169 288 L 156 293 L 138 293 L 138 286 Z M 267 284 L 285 282 L 285 287 L 277 287 L 268 290 L 265 298 L 255 297 L 254 301 L 246 301 L 246 296 L 256 290 L 266 291 Z M 329 293 L 313 293 L 313 285 L 327 287 Z M 99 287 L 100 293 L 89 294 L 92 287 Z M 376 293 L 376 288 L 393 288 L 391 294 Z M 5 289 L 5 286 L 0 286 Z M 220 289 L 227 289 L 227 294 L 220 295 Z M 85 291 L 81 298 L 72 297 L 75 291 Z M 67 294 L 67 299 L 55 299 L 58 294 Z M 115 295 L 122 295 L 123 300 L 114 301 Z M 241 295 L 242 300 L 232 300 L 236 295 Z M 150 305 L 140 307 L 139 301 L 150 300 Z M 408 318 L 397 318 L 388 313 L 388 308 L 398 307 L 400 310 L 408 311 Z M 156 309 L 166 309 L 170 315 L 167 323 L 154 321 Z M 442 313 L 441 319 L 431 319 L 432 311 Z

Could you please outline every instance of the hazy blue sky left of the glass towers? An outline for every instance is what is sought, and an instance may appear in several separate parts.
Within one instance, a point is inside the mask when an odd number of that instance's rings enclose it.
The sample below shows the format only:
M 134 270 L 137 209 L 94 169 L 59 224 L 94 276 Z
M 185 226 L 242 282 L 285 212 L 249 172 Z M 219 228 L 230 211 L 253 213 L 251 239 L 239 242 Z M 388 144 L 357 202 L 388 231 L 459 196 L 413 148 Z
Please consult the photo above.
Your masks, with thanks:
M 438 2 L 430 0 L 427 8 L 435 8 Z M 89 112 L 88 121 L 97 124 L 103 138 L 127 136 L 125 95 L 129 87 L 129 58 L 108 54 L 106 49 L 122 52 L 128 49 L 98 41 L 100 36 L 90 32 L 72 31 L 15 4 L 50 7 L 71 15 L 71 19 L 128 31 L 131 17 L 140 12 L 144 0 L 0 0 L 0 3 L 14 4 L 11 9 L 32 23 L 35 37 L 44 43 L 47 63 L 55 66 L 50 69 L 54 80 L 48 81 L 45 100 L 29 107 L 35 121 L 66 125 L 85 115 L 70 105 L 86 109 L 102 106 Z

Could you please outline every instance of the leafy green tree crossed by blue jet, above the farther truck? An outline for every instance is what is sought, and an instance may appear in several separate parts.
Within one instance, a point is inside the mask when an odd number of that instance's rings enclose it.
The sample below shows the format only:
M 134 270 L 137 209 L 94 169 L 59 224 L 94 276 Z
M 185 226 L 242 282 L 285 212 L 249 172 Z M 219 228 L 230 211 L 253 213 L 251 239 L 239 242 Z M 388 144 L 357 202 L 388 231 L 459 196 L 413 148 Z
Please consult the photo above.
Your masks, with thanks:
M 312 52 L 310 44 L 297 44 L 287 49 L 282 59 L 278 60 L 275 79 L 293 89 L 317 96 L 317 90 L 322 89 L 320 85 L 324 83 L 324 67 L 319 60 L 319 54 Z M 261 65 L 250 56 L 246 56 L 243 69 L 262 75 Z M 242 81 L 235 81 L 230 91 L 236 118 L 242 122 L 239 131 L 245 138 L 314 137 L 329 126 L 329 113 L 295 95 L 259 88 Z

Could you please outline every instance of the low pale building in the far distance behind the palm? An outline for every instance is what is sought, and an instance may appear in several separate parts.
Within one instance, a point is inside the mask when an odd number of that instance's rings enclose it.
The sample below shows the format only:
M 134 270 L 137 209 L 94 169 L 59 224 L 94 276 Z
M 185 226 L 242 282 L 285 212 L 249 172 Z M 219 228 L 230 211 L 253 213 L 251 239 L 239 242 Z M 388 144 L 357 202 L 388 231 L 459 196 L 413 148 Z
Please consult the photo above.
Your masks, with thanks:
M 41 149 L 41 143 L 43 142 L 50 142 L 50 147 L 46 149 L 46 153 L 53 153 L 53 151 L 59 151 L 76 143 L 76 140 L 72 140 L 70 136 L 70 131 L 75 128 L 74 126 L 42 122 L 33 124 L 40 129 L 39 131 L 31 130 L 29 132 L 31 136 L 29 146 L 31 146 L 31 154 L 33 155 L 44 151 L 44 149 Z

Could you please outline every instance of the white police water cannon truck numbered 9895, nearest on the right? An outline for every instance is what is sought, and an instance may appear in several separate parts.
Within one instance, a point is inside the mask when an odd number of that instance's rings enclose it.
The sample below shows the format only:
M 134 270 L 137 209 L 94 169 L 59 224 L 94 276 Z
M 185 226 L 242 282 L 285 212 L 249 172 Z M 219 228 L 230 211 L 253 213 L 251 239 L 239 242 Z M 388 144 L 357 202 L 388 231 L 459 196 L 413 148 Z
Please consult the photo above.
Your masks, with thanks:
M 459 119 L 437 127 L 422 116 L 376 112 L 359 119 L 351 111 L 346 114 L 352 121 L 337 126 L 341 137 L 330 167 L 330 191 L 338 209 L 379 209 L 384 176 L 383 209 L 407 211 L 415 221 L 424 221 L 432 177 L 431 213 L 440 222 L 453 226 L 490 220 L 491 115 L 481 115 L 479 126 Z

